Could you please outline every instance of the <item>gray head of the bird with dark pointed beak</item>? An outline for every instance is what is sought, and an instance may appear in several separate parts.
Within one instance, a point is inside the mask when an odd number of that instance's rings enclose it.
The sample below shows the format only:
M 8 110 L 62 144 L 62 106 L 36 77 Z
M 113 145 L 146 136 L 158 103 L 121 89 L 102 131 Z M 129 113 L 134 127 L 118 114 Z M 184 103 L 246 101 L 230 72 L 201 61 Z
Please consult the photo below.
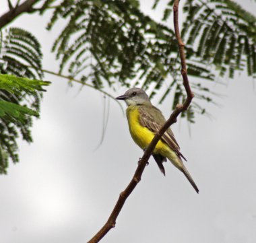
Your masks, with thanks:
M 117 100 L 125 100 L 127 106 L 134 106 L 136 104 L 151 104 L 150 98 L 144 90 L 140 88 L 131 88 L 123 94 L 123 96 L 118 96 Z

